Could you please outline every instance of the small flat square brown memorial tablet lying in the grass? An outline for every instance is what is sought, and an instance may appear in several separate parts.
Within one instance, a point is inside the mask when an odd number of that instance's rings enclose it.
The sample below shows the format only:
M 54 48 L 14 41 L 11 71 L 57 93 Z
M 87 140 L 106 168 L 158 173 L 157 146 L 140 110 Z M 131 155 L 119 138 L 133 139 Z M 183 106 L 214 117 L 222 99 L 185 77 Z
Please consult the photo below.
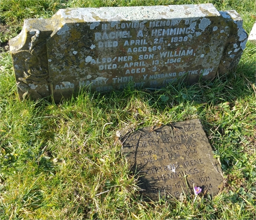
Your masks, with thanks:
M 198 119 L 144 127 L 121 138 L 122 152 L 139 174 L 143 195 L 179 199 L 181 193 L 219 193 L 223 177 Z

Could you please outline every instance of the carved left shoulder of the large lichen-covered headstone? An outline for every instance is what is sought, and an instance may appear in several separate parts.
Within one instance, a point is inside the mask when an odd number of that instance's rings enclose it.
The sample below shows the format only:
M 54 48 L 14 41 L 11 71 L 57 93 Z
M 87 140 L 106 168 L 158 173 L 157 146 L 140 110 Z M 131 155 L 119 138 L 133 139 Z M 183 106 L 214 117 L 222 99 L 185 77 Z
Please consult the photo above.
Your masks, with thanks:
M 25 19 L 22 32 L 9 41 L 19 99 L 50 96 L 46 39 L 51 19 Z

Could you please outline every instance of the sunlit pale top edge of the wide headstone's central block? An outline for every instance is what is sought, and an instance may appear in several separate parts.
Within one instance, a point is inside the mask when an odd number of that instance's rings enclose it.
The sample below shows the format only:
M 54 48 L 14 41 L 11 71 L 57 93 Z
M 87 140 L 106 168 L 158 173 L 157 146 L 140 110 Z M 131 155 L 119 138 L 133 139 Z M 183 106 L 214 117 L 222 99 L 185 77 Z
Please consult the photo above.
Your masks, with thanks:
M 101 8 L 68 8 L 60 9 L 52 17 L 60 16 L 64 20 L 76 19 L 87 22 L 114 20 L 154 20 L 200 18 L 220 16 L 212 4 L 167 5 L 136 7 L 101 7 Z

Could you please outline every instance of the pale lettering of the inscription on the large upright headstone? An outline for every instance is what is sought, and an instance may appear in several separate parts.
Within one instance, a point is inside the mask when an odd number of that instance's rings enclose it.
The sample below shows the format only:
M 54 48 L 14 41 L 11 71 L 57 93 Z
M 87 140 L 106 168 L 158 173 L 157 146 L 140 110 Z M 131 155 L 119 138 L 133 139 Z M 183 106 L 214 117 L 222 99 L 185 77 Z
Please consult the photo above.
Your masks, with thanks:
M 101 91 L 102 85 L 108 81 L 116 89 L 123 89 L 129 82 L 135 83 L 137 87 L 162 87 L 183 75 L 206 76 L 215 73 L 217 67 L 208 64 L 205 67 L 184 68 L 185 63 L 206 56 L 197 45 L 191 46 L 191 42 L 201 35 L 200 31 L 196 32 L 197 23 L 198 19 L 193 18 L 101 24 L 94 33 L 95 44 L 91 48 L 102 50 L 102 53 L 99 56 L 98 53 L 87 56 L 86 64 L 99 73 L 118 71 L 122 74 L 105 78 L 103 84 L 90 79 L 82 80 L 79 86 L 95 85 L 96 90 Z M 224 31 L 221 35 L 226 37 Z M 118 48 L 122 48 L 119 56 L 115 53 L 102 57 L 106 54 L 105 50 Z M 113 86 L 109 89 L 113 89 Z

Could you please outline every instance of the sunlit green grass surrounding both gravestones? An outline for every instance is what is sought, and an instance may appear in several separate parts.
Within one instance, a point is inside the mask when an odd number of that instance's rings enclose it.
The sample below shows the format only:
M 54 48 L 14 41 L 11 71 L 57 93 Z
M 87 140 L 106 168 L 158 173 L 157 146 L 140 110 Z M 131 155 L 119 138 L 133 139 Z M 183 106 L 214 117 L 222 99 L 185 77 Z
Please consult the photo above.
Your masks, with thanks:
M 24 18 L 59 8 L 166 5 L 207 1 L 2 0 L 1 23 L 11 33 Z M 237 10 L 250 31 L 254 1 L 208 1 Z M 104 96 L 81 92 L 53 104 L 18 100 L 12 61 L 0 51 L 0 219 L 255 219 L 256 48 L 247 43 L 238 69 L 192 86 L 155 92 L 126 89 Z M 122 128 L 199 118 L 222 163 L 225 184 L 213 198 L 147 203 L 115 140 Z

